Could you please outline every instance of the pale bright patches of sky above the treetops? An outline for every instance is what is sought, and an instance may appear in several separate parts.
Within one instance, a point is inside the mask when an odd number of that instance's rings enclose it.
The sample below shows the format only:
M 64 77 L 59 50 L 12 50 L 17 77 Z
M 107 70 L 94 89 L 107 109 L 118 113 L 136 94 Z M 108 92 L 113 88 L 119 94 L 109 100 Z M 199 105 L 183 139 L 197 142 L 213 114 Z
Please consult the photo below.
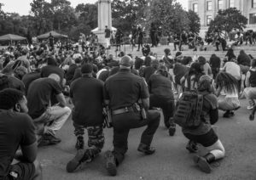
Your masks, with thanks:
M 46 0 L 49 2 L 49 0 Z M 75 8 L 79 3 L 95 3 L 96 0 L 69 0 L 71 5 Z M 183 8 L 188 9 L 189 0 L 177 0 L 183 5 Z M 0 0 L 3 3 L 3 11 L 8 13 L 18 13 L 20 15 L 27 15 L 30 11 L 30 3 L 32 0 Z

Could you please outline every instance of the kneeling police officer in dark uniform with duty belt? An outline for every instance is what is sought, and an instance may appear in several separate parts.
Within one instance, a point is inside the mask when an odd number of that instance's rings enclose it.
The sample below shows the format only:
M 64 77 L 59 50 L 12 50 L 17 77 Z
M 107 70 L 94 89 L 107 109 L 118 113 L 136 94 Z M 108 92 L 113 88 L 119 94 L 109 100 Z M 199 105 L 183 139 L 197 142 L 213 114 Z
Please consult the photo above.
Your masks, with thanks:
M 131 65 L 129 56 L 122 57 L 119 72 L 110 76 L 104 86 L 105 104 L 111 110 L 113 125 L 113 151 L 107 151 L 105 155 L 106 168 L 111 176 L 117 174 L 116 167 L 125 158 L 130 129 L 148 126 L 137 150 L 152 155 L 155 149 L 150 144 L 160 124 L 160 113 L 148 110 L 147 84 L 142 77 L 131 73 Z

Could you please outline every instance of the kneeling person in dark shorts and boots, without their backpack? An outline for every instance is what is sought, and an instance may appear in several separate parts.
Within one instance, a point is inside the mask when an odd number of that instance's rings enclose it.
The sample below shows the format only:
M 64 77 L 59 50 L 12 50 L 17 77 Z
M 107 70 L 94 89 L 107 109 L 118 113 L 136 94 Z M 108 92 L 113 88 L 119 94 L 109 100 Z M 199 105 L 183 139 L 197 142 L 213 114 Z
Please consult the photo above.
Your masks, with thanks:
M 218 121 L 218 99 L 212 93 L 212 79 L 210 76 L 201 76 L 198 88 L 200 94 L 204 96 L 201 111 L 201 124 L 195 128 L 183 127 L 183 134 L 189 139 L 187 149 L 196 152 L 196 143 L 200 143 L 207 149 L 206 155 L 195 155 L 195 165 L 199 166 L 202 172 L 210 173 L 212 168 L 210 163 L 224 158 L 225 150 L 218 135 L 212 129 L 212 124 Z

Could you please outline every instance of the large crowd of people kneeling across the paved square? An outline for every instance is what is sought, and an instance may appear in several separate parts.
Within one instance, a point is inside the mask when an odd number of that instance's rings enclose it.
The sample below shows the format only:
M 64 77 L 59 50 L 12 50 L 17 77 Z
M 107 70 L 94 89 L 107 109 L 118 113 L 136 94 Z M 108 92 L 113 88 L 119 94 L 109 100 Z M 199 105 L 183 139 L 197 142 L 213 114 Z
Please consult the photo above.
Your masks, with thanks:
M 7 51 L 1 56 L 0 179 L 42 179 L 37 149 L 61 143 L 56 132 L 71 114 L 77 154 L 67 163 L 67 172 L 74 172 L 94 160 L 104 146 L 103 128 L 108 112 L 113 119 L 110 123 L 114 149 L 105 154 L 106 167 L 108 173 L 115 176 L 128 149 L 129 130 L 148 125 L 138 151 L 154 154 L 150 143 L 160 123 L 158 109 L 162 110 L 166 129 L 173 136 L 179 124 L 175 111 L 178 97 L 186 92 L 203 97 L 198 126 L 182 127 L 189 139 L 186 149 L 196 153 L 198 143 L 206 147 L 207 155 L 195 155 L 194 161 L 202 172 L 210 173 L 210 164 L 225 155 L 224 146 L 212 129 L 218 121 L 218 110 L 224 110 L 225 118 L 234 116 L 240 108 L 239 98 L 243 96 L 248 100 L 248 109 L 255 107 L 256 59 L 243 50 L 236 57 L 230 48 L 224 65 L 215 54 L 209 60 L 202 56 L 185 57 L 181 52 L 172 57 L 168 48 L 160 59 L 152 53 L 135 59 L 131 54 L 121 54 L 119 60 L 114 60 L 112 55 L 106 59 L 102 56 L 105 54 L 93 59 L 79 51 L 66 55 L 60 62 L 49 52 L 40 59 L 40 65 L 35 63 L 37 54 L 33 56 L 26 49 L 17 57 L 10 58 Z M 119 105 L 122 102 L 125 106 Z M 68 103 L 73 103 L 73 110 Z M 133 104 L 137 111 L 145 110 L 148 117 L 139 116 L 143 121 L 132 121 L 131 125 L 128 121 L 136 119 L 137 114 L 125 113 L 136 111 L 131 108 Z M 87 149 L 84 149 L 85 129 Z

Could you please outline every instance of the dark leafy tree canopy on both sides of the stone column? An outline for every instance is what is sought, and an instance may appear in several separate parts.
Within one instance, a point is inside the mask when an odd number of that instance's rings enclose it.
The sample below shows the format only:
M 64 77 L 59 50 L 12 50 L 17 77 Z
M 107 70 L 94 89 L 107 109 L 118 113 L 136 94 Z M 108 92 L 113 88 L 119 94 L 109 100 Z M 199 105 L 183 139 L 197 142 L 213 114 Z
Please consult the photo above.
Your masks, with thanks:
M 27 37 L 48 31 L 67 34 L 78 40 L 80 33 L 88 35 L 97 27 L 97 3 L 80 3 L 71 6 L 70 0 L 32 0 L 29 15 L 3 12 L 0 3 L 0 36 L 12 33 Z M 151 23 L 160 25 L 164 32 L 199 31 L 199 18 L 194 12 L 186 12 L 176 0 L 113 0 L 113 26 L 126 35 L 131 25 L 143 25 L 149 30 Z

